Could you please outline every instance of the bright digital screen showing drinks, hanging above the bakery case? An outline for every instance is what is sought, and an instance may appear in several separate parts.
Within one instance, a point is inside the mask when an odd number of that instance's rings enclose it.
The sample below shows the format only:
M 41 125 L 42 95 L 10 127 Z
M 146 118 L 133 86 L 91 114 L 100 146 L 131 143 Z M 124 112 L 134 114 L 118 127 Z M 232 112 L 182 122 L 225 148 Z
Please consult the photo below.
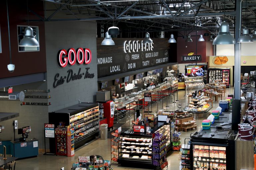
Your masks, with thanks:
M 207 65 L 186 65 L 186 76 L 204 76 Z

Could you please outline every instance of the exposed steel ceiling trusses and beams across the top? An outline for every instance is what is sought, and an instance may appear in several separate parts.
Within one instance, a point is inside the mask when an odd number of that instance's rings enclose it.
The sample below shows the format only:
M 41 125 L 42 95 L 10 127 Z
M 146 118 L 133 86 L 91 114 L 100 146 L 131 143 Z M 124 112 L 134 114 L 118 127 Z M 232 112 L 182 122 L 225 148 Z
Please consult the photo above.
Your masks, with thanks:
M 44 21 L 97 21 L 103 25 L 110 24 L 112 21 L 111 23 L 114 22 L 120 31 L 123 29 L 131 32 L 188 31 L 195 30 L 197 27 L 198 30 L 208 30 L 212 33 L 218 32 L 220 23 L 226 21 L 230 25 L 230 31 L 234 32 L 235 0 L 44 1 L 54 3 L 56 7 L 56 9 L 46 7 L 46 12 L 53 12 L 45 16 Z M 59 11 L 69 17 L 64 19 L 54 17 Z M 197 25 L 195 25 L 196 17 L 198 18 Z M 255 17 L 256 1 L 244 0 L 242 4 L 243 26 L 254 29 Z M 37 21 L 42 20 L 39 18 Z

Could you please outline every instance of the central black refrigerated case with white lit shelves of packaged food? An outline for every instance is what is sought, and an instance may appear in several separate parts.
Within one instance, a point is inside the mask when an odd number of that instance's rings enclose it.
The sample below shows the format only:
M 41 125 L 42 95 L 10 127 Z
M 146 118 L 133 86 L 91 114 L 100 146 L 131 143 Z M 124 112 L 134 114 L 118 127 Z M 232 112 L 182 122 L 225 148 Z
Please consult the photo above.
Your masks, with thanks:
M 171 136 L 168 135 L 169 132 L 166 132 L 169 129 L 171 129 L 170 124 L 158 123 L 154 127 L 152 134 L 144 134 L 127 130 L 121 132 L 117 160 L 118 163 L 127 166 L 151 167 L 153 165 L 152 140 L 155 136 L 154 133 L 163 130 L 162 132 L 167 134 L 164 142 L 171 142 Z

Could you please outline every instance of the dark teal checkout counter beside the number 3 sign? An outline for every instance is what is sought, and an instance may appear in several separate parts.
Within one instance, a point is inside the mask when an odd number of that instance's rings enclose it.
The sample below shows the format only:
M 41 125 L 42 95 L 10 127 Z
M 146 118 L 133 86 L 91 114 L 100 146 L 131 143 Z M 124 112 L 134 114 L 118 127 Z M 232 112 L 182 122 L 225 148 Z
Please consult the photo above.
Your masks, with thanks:
M 26 158 L 38 155 L 38 139 L 33 138 L 25 142 L 15 142 L 11 154 L 18 158 Z

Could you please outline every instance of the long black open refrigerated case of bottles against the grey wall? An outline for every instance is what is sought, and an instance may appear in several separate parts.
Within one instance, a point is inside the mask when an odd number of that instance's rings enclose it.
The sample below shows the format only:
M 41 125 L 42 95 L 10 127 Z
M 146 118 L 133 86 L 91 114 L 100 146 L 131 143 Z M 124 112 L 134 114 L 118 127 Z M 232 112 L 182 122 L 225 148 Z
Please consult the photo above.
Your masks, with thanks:
M 63 122 L 64 126 L 74 128 L 75 149 L 88 140 L 99 135 L 99 104 L 79 103 L 55 112 L 49 113 L 49 123 L 55 127 Z M 49 138 L 50 151 L 55 152 L 55 139 Z

